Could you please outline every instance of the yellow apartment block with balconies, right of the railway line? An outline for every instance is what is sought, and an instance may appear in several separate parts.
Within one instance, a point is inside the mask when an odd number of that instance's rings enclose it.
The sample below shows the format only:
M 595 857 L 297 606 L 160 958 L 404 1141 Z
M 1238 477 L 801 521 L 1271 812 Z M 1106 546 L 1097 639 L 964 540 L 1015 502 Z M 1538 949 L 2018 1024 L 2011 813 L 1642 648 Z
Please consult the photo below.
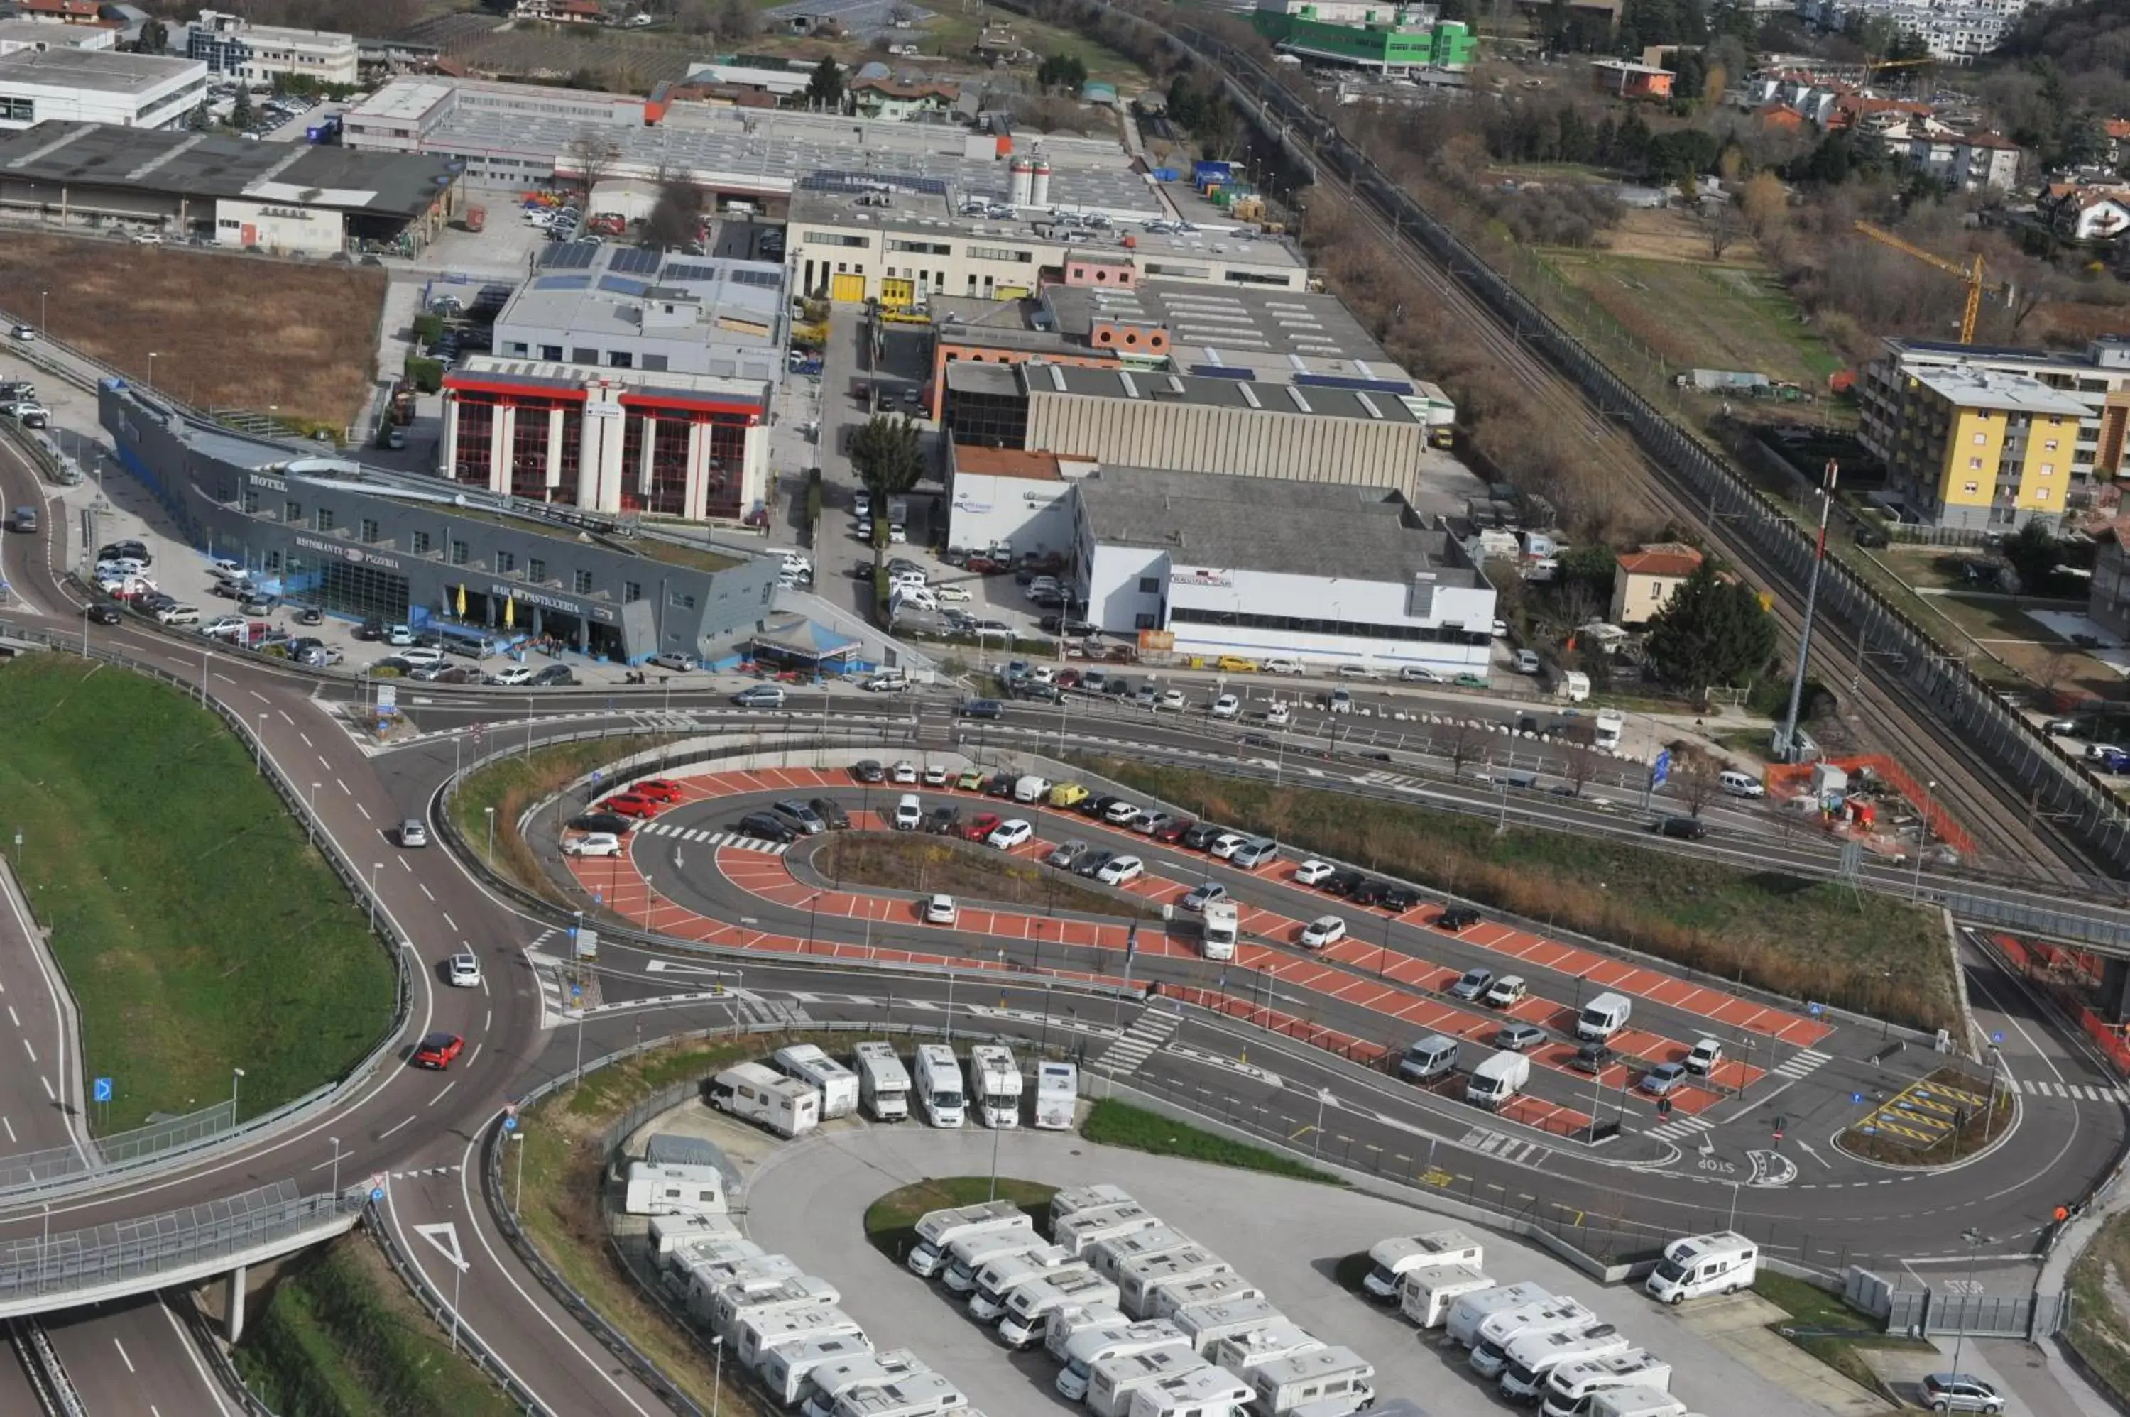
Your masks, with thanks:
M 1887 501 L 1906 520 L 2009 531 L 2085 507 L 2096 484 L 2124 473 L 2130 339 L 2081 352 L 1919 339 L 1885 349 L 1857 379 L 1857 437 L 1885 460 Z

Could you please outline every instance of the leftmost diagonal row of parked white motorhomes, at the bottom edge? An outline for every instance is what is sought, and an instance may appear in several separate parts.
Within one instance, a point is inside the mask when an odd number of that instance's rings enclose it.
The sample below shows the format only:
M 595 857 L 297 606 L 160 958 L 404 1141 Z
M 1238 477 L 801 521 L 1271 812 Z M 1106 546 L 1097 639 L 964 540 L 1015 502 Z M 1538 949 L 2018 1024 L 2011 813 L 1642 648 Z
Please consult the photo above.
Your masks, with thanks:
M 835 1285 L 739 1234 L 724 1215 L 652 1219 L 658 1278 L 788 1411 L 807 1417 L 984 1417 L 910 1349 L 875 1351 Z

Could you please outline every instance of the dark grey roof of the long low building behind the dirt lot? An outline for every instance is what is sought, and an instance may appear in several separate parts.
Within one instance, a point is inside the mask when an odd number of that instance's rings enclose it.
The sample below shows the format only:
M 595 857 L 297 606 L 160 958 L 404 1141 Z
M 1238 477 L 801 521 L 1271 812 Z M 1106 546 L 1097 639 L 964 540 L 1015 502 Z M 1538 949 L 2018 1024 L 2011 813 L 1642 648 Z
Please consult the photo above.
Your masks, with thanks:
M 0 60 L 0 66 L 13 58 Z M 449 162 L 430 156 L 245 143 L 207 132 L 117 124 L 38 124 L 0 134 L 0 175 L 85 188 L 243 196 L 396 217 L 428 211 L 458 177 Z

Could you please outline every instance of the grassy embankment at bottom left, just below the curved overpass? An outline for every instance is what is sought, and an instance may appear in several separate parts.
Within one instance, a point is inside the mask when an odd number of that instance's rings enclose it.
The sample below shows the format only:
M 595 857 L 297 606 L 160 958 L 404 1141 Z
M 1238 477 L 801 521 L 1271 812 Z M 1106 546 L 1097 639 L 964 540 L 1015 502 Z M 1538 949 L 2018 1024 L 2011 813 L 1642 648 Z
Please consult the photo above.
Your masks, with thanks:
M 288 1261 L 236 1345 L 279 1417 L 507 1417 L 518 1411 L 360 1236 Z

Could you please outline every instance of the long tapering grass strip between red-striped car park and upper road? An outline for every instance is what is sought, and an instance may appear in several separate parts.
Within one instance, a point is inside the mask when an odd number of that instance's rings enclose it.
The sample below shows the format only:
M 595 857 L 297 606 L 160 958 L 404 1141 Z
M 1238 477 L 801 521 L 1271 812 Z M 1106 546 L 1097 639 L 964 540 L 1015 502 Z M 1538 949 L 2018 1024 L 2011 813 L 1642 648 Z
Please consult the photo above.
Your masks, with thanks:
M 1521 916 L 1644 950 L 1793 999 L 1915 1027 L 1955 1027 L 1938 914 L 1779 872 L 1646 850 L 1632 842 L 1274 786 L 1127 759 L 1088 767 L 1210 820 L 1278 837 Z

